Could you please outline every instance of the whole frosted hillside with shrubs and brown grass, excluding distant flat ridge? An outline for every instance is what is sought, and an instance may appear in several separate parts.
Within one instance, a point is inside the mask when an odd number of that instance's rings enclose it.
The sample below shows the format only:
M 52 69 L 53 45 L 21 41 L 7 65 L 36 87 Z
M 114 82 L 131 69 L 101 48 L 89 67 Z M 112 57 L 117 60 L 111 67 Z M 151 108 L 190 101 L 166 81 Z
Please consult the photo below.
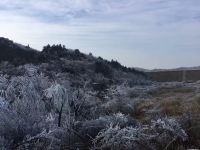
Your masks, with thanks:
M 199 82 L 157 83 L 92 54 L 0 38 L 0 149 L 173 150 L 200 144 Z

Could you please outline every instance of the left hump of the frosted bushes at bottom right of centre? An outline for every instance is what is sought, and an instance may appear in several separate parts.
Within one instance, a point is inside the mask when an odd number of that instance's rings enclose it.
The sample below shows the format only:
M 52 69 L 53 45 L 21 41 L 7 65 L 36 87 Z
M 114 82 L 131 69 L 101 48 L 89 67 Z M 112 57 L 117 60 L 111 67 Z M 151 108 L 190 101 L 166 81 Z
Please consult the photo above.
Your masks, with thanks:
M 111 125 L 107 129 L 102 130 L 94 139 L 93 150 L 103 149 L 119 149 L 119 150 L 143 150 L 152 149 L 148 140 L 151 135 L 144 133 L 144 129 L 140 127 L 120 128 L 118 125 Z

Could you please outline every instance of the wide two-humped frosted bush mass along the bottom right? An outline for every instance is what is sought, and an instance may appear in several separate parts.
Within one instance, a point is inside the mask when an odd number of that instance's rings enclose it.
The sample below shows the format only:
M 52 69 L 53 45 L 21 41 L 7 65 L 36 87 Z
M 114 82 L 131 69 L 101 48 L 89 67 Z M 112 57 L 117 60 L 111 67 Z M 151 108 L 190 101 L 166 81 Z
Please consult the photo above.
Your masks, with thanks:
M 178 140 L 187 140 L 187 134 L 174 119 L 163 118 L 151 125 L 120 127 L 111 124 L 93 140 L 94 150 L 149 150 L 167 149 Z M 176 146 L 176 145 L 175 145 Z

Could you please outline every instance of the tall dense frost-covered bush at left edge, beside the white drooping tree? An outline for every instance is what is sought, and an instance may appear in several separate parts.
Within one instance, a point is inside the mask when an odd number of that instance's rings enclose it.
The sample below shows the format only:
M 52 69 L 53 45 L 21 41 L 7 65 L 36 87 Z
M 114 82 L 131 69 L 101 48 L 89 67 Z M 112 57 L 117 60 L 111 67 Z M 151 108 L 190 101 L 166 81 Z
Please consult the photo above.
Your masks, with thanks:
M 45 82 L 45 83 L 44 83 Z M 12 77 L 0 99 L 0 135 L 9 146 L 18 145 L 26 136 L 48 128 L 42 89 L 48 81 L 42 75 Z

